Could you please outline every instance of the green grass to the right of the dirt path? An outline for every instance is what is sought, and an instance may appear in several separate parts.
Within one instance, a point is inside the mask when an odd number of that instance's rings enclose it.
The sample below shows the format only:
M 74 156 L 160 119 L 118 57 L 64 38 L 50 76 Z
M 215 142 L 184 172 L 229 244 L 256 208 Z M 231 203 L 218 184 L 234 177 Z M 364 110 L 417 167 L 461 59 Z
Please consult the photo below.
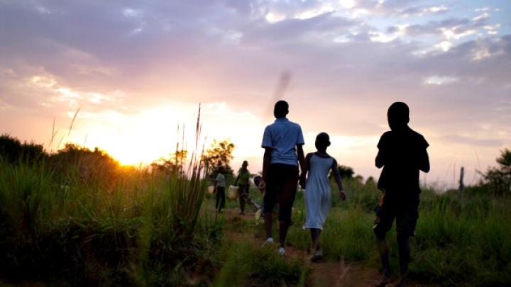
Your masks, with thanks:
M 334 193 L 321 244 L 330 260 L 347 259 L 380 266 L 372 231 L 380 191 L 360 181 L 345 183 L 347 201 Z M 331 186 L 332 190 L 335 186 Z M 447 285 L 508 286 L 511 283 L 511 201 L 490 194 L 437 194 L 423 188 L 416 236 L 411 237 L 412 278 Z M 295 225 L 288 242 L 308 249 L 303 196 L 297 194 Z M 303 210 L 304 211 L 304 210 Z M 391 263 L 398 271 L 395 225 L 388 233 Z

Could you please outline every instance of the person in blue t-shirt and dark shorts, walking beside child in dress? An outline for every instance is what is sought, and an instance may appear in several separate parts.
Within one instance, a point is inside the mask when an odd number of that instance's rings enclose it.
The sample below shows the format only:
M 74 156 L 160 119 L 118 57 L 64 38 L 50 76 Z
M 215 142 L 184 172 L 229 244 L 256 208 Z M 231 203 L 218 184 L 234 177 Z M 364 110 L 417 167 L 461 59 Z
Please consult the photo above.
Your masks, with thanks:
M 286 118 L 289 105 L 286 101 L 275 103 L 273 115 L 276 120 L 265 128 L 263 144 L 263 179 L 259 188 L 265 189 L 264 220 L 266 228 L 265 244 L 273 243 L 273 208 L 279 203 L 279 242 L 278 252 L 285 253 L 285 237 L 291 225 L 292 206 L 298 185 L 298 163 L 303 169 L 304 138 L 302 128 Z

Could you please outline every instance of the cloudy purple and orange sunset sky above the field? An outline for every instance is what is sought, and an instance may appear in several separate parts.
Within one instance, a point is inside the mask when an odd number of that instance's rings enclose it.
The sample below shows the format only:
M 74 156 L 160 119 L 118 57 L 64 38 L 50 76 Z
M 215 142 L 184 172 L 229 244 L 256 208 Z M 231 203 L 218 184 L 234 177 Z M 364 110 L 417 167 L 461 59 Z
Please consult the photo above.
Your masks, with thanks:
M 364 177 L 394 101 L 431 145 L 427 184 L 461 166 L 476 183 L 511 148 L 511 1 L 0 0 L 0 133 L 48 150 L 148 163 L 179 123 L 191 145 L 202 103 L 207 142 L 231 139 L 233 167 L 257 172 L 282 73 L 306 152 L 327 132 Z

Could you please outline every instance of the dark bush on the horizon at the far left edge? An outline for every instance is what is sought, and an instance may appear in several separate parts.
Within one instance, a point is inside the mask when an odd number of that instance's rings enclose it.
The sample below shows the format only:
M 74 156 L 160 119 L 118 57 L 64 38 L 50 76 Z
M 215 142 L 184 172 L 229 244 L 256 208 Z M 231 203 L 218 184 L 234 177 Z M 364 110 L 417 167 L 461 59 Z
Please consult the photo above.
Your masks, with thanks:
M 21 143 L 16 137 L 4 134 L 0 135 L 0 157 L 11 163 L 21 161 L 32 164 L 46 159 L 48 154 L 43 145 L 38 145 L 35 142 Z

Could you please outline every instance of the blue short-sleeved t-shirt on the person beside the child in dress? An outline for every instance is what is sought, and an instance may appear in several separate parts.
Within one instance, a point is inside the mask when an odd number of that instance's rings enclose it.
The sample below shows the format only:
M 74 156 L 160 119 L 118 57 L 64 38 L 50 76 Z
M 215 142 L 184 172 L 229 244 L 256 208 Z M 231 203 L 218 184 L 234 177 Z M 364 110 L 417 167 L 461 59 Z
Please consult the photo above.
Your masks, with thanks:
M 298 166 L 296 146 L 303 145 L 302 128 L 287 118 L 278 118 L 265 128 L 261 147 L 271 147 L 270 164 L 291 164 Z

